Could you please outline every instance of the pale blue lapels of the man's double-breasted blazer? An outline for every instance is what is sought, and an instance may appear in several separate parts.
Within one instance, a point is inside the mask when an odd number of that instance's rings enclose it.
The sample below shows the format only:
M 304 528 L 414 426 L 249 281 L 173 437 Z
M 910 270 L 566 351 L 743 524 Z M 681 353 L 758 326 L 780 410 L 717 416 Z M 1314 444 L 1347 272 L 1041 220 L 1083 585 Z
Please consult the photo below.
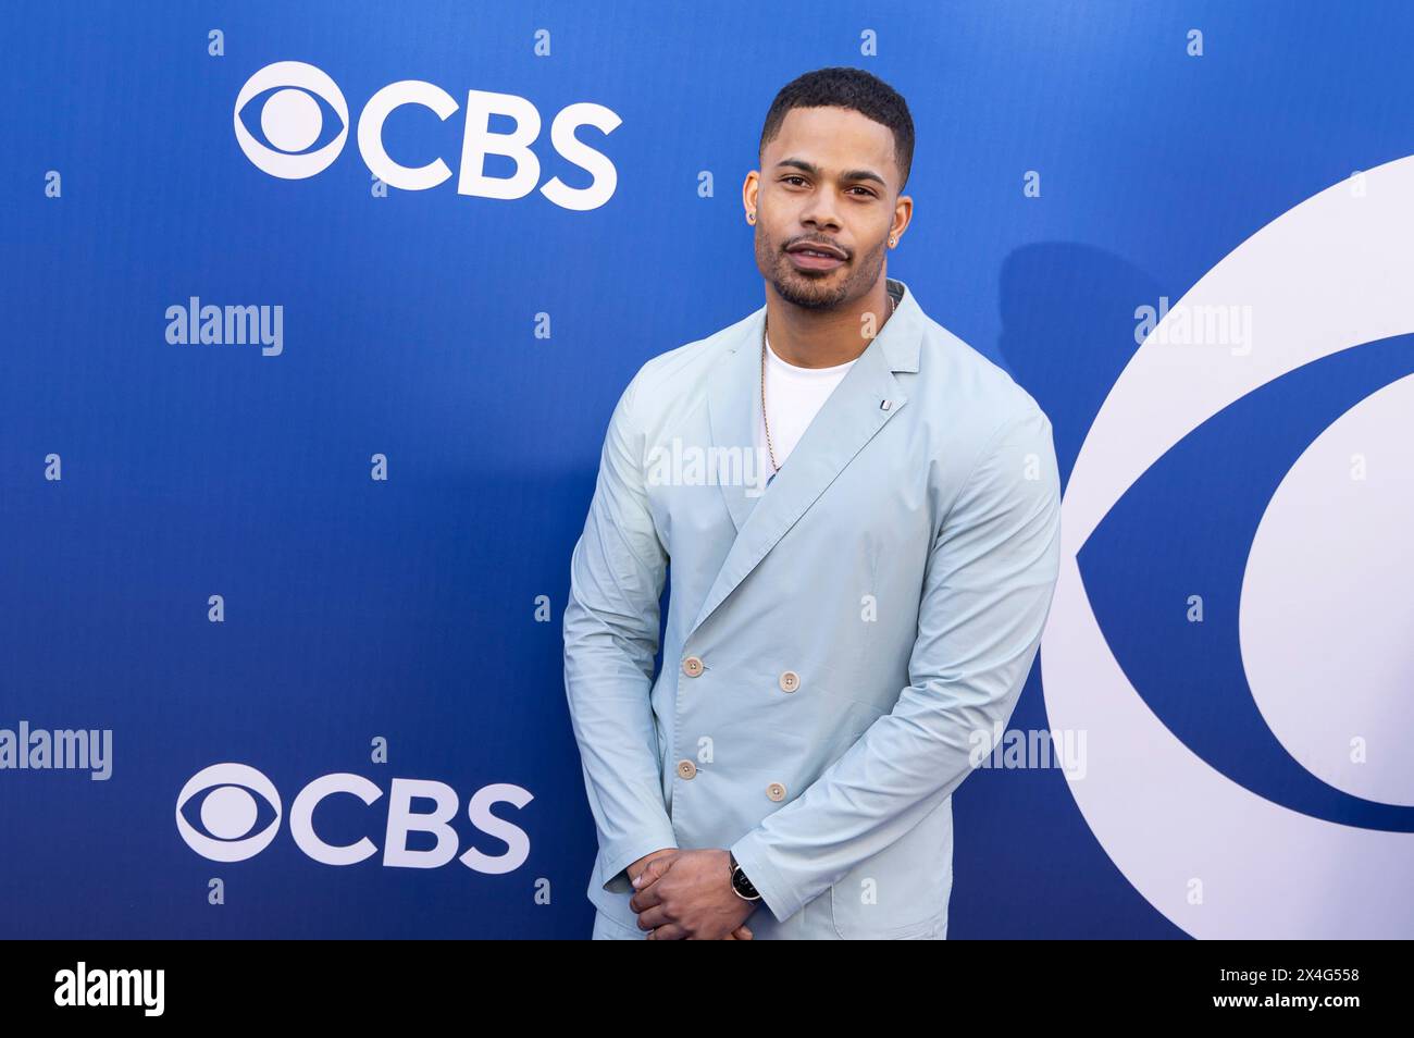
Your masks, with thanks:
M 889 281 L 902 288 L 902 301 L 826 399 L 765 494 L 758 495 L 756 486 L 747 478 L 718 484 L 737 526 L 737 537 L 689 636 L 908 402 L 894 372 L 918 371 L 923 314 L 908 286 L 895 279 Z M 741 335 L 707 387 L 707 417 L 713 447 L 718 451 L 735 447 L 749 454 L 755 448 L 756 424 L 761 421 L 761 332 L 765 320 L 766 308 L 761 307 L 742 325 Z M 769 467 L 768 461 L 768 471 Z M 755 465 L 742 465 L 742 470 L 751 475 Z

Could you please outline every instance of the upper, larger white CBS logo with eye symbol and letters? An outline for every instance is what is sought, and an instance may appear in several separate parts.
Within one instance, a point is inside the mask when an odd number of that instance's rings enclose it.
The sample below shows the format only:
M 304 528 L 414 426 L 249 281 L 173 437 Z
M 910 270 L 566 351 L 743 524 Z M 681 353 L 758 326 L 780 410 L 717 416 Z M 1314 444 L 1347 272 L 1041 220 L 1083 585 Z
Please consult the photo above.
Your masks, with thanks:
M 246 124 L 247 119 L 242 117 L 242 112 L 256 107 L 252 102 L 262 96 L 257 122 L 267 143 L 256 140 Z M 420 79 L 389 83 L 369 98 L 359 115 L 358 148 L 368 168 L 385 184 L 402 191 L 427 191 L 451 178 L 452 171 L 447 163 L 436 158 L 424 165 L 403 165 L 383 147 L 383 123 L 404 105 L 431 109 L 441 120 L 460 109 L 457 100 L 434 83 Z M 325 133 L 328 115 L 338 117 L 339 130 L 331 140 L 314 147 Z M 492 116 L 512 119 L 515 130 L 491 133 Z M 530 194 L 540 181 L 540 160 L 530 150 L 542 126 L 536 106 L 513 93 L 468 91 L 462 120 L 457 192 L 499 199 Z M 585 188 L 571 188 L 554 177 L 540 187 L 540 194 L 563 209 L 581 212 L 597 209 L 609 201 L 618 187 L 614 163 L 581 144 L 574 132 L 580 126 L 592 126 L 602 133 L 612 133 L 621 122 L 617 113 L 591 102 L 561 109 L 550 123 L 550 143 L 561 157 L 585 170 L 592 181 Z M 236 95 L 235 129 L 240 150 L 256 168 L 283 180 L 304 180 L 328 168 L 344 150 L 349 129 L 348 102 L 338 83 L 324 71 L 303 61 L 277 61 L 262 68 L 240 88 Z M 486 156 L 510 158 L 516 167 L 515 174 L 488 177 Z

